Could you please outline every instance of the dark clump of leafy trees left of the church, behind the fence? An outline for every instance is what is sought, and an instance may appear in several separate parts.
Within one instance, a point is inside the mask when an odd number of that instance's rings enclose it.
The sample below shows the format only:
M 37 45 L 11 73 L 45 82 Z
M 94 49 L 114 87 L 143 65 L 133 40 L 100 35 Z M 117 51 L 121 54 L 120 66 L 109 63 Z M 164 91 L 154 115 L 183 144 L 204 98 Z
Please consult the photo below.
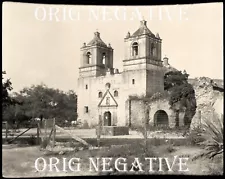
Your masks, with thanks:
M 3 118 L 11 123 L 29 121 L 31 118 L 56 118 L 64 125 L 77 118 L 77 95 L 47 87 L 45 84 L 24 88 L 12 97 L 21 105 L 9 106 Z

